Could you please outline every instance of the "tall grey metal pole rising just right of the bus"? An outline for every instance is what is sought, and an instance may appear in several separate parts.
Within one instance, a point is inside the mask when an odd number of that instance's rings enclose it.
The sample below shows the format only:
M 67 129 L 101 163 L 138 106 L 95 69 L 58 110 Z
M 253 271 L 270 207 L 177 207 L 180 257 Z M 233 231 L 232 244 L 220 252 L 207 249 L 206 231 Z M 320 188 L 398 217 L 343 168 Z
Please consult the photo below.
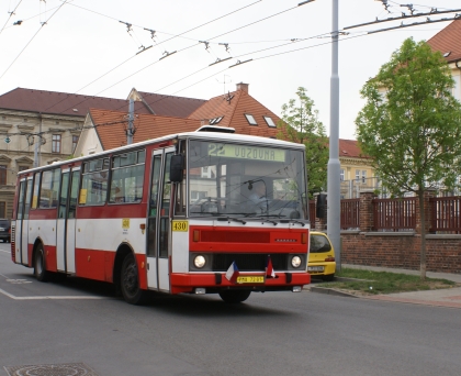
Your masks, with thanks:
M 338 74 L 338 0 L 331 0 L 331 78 L 329 110 L 329 159 L 327 235 L 335 247 L 336 270 L 341 269 L 340 197 L 339 197 L 339 74 Z

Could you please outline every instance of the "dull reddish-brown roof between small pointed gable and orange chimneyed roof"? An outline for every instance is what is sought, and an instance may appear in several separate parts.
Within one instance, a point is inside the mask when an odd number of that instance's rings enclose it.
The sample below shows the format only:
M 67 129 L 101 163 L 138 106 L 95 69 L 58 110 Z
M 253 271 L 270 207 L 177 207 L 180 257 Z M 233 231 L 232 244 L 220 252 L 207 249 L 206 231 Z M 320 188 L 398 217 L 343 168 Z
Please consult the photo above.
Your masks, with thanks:
M 138 91 L 155 114 L 162 117 L 187 118 L 206 102 L 204 99 L 164 96 L 153 92 Z

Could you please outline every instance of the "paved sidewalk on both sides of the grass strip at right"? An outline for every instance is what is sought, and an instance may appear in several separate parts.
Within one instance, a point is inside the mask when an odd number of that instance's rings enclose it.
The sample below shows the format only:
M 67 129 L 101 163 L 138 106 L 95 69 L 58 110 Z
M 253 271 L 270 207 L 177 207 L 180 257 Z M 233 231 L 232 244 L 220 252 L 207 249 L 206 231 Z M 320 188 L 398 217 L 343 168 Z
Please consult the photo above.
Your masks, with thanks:
M 387 267 L 349 265 L 349 264 L 342 264 L 342 267 L 366 269 L 366 270 L 373 270 L 373 272 L 391 272 L 391 273 L 403 273 L 403 274 L 411 274 L 411 275 L 417 275 L 417 276 L 419 275 L 419 270 L 396 269 L 396 268 L 387 268 Z M 458 284 L 461 284 L 461 274 L 427 272 L 426 275 L 429 278 L 442 278 L 442 279 L 448 279 L 448 280 L 452 280 Z M 436 307 L 461 308 L 461 287 L 452 287 L 452 288 L 430 290 L 430 291 L 413 291 L 413 292 L 376 295 L 376 296 L 366 297 L 364 299 L 381 300 L 381 301 L 395 301 L 395 302 L 436 306 Z

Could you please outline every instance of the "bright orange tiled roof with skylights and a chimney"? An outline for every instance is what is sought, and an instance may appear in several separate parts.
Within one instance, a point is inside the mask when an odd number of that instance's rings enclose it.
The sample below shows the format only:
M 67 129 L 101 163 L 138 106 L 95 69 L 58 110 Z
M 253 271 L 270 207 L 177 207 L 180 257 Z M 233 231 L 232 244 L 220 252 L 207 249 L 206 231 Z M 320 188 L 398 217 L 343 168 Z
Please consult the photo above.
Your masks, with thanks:
M 245 114 L 251 114 L 257 125 L 250 125 Z M 274 124 L 280 118 L 268 108 L 252 98 L 246 90 L 236 90 L 225 96 L 210 99 L 202 107 L 192 112 L 189 118 L 196 120 L 211 120 L 224 117 L 220 126 L 234 128 L 236 133 L 249 134 L 263 137 L 276 137 L 279 133 L 277 128 L 268 125 L 263 117 L 270 117 Z

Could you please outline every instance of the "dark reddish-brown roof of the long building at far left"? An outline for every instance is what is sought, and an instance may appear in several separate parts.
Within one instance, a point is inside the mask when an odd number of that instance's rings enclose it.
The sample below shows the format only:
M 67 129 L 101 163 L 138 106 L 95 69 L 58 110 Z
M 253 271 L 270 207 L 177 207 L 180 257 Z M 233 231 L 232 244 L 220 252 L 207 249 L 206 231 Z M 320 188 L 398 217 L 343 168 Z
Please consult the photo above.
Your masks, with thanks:
M 128 111 L 128 101 L 125 99 L 16 88 L 0 96 L 0 108 L 86 117 L 90 108 Z M 140 102 L 135 102 L 135 111 L 138 113 L 149 113 Z

